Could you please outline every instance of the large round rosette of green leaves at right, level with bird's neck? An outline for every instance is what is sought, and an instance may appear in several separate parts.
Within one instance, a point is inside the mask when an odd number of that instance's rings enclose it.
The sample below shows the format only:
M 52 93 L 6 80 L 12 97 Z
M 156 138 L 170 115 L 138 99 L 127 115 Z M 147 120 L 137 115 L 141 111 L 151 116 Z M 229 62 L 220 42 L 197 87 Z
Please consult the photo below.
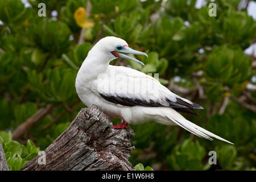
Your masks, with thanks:
M 216 47 L 208 55 L 205 63 L 207 75 L 224 84 L 232 86 L 249 78 L 251 59 L 240 47 Z

